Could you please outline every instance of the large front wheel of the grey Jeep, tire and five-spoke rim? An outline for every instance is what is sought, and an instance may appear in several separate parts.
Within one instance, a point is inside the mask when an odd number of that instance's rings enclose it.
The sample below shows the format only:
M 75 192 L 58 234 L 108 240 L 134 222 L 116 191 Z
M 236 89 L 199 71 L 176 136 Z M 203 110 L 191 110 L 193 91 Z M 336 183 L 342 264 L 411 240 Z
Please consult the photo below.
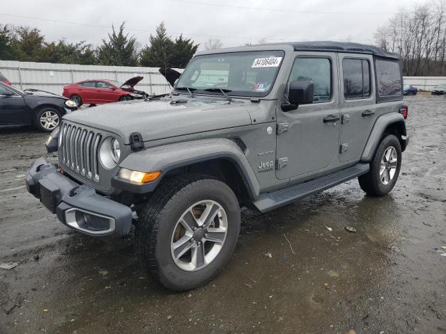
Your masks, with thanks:
M 141 211 L 136 245 L 148 273 L 185 291 L 213 278 L 240 232 L 240 207 L 224 182 L 189 175 L 164 184 Z

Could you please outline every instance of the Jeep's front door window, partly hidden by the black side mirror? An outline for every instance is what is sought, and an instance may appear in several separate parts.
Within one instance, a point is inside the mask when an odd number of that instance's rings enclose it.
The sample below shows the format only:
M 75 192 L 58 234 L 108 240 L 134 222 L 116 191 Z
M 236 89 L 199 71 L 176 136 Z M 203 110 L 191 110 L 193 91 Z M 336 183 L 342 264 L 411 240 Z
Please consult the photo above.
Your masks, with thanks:
M 312 81 L 314 102 L 330 101 L 332 98 L 332 70 L 328 58 L 295 58 L 288 86 L 291 81 Z

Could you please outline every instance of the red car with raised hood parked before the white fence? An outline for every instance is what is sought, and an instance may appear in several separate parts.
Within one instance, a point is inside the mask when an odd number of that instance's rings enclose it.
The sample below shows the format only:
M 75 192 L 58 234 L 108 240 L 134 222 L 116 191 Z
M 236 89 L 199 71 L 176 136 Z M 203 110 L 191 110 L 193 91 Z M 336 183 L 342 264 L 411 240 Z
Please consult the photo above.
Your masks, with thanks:
M 144 77 L 128 79 L 124 84 L 108 79 L 95 79 L 75 82 L 63 87 L 63 96 L 81 106 L 87 104 L 104 104 L 109 102 L 144 99 L 148 95 L 135 90 L 134 86 Z

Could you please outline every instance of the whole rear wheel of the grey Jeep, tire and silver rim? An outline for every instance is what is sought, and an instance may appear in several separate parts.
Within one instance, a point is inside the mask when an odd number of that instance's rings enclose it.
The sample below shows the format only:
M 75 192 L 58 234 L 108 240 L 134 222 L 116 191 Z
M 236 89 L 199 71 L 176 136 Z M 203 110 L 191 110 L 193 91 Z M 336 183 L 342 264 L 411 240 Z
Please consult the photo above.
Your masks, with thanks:
M 397 183 L 401 168 L 401 144 L 397 136 L 388 134 L 376 149 L 369 173 L 358 177 L 361 189 L 371 196 L 384 196 Z

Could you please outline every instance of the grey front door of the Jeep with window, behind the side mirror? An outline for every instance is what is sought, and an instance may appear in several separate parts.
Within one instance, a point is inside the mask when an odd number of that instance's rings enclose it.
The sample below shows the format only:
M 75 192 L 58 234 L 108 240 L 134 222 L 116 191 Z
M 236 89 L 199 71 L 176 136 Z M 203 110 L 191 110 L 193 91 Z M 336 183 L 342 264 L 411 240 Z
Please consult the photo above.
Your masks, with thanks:
M 337 161 L 340 118 L 337 68 L 337 55 L 333 53 L 296 56 L 288 83 L 313 81 L 314 102 L 287 112 L 278 106 L 276 175 L 280 180 L 323 172 Z M 286 128 L 287 131 L 280 133 Z M 288 164 L 280 167 L 284 158 Z

